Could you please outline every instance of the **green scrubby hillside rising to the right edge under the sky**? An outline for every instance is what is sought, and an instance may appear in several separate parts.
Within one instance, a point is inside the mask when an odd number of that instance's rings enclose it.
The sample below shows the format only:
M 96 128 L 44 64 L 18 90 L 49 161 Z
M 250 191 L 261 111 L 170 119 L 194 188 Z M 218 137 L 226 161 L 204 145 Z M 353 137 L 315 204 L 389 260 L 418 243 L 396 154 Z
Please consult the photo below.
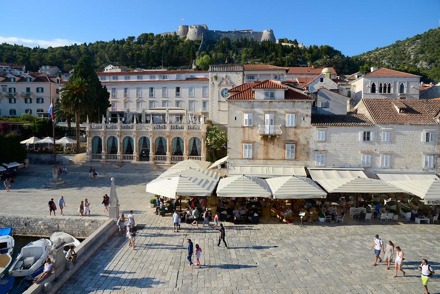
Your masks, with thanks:
M 419 72 L 440 81 L 440 28 L 356 56 L 368 65 Z

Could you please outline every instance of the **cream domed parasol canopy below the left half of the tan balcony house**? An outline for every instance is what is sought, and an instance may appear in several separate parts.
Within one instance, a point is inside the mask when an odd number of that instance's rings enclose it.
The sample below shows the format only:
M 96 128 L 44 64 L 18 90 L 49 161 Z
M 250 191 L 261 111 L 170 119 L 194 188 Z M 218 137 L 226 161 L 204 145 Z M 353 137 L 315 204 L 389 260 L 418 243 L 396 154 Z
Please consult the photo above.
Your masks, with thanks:
M 220 197 L 269 197 L 270 195 L 267 182 L 251 176 L 223 178 L 217 186 L 217 196 Z

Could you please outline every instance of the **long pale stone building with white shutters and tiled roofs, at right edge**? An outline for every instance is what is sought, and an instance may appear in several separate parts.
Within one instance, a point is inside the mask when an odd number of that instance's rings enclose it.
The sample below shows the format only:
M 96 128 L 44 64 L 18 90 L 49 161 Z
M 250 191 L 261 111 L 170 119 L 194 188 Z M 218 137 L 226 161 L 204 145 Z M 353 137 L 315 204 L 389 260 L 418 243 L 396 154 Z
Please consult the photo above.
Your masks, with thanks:
M 312 115 L 309 166 L 439 172 L 440 101 L 364 98 L 355 112 Z

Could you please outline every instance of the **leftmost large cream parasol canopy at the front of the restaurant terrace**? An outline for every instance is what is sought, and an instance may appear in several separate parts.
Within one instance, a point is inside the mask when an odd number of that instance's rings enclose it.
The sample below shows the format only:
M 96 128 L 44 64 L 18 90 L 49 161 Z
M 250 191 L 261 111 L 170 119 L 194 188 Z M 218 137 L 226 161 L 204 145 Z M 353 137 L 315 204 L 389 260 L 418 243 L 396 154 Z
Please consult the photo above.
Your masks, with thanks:
M 171 177 L 148 183 L 145 191 L 173 199 L 176 195 L 210 196 L 216 184 L 217 181 L 205 179 Z

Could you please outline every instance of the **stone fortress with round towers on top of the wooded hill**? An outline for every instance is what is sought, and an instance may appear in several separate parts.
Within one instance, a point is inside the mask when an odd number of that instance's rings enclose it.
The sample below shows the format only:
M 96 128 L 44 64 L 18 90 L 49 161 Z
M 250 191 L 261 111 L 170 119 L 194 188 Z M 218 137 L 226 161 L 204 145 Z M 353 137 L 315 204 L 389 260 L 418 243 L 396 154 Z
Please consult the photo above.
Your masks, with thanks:
M 220 40 L 226 37 L 229 40 L 239 40 L 240 38 L 253 39 L 258 42 L 270 41 L 275 43 L 275 35 L 273 30 L 266 29 L 262 32 L 254 32 L 254 30 L 233 30 L 233 31 L 217 31 L 210 30 L 206 24 L 179 25 L 176 32 L 165 32 L 161 35 L 177 34 L 180 38 L 186 37 L 188 40 Z

